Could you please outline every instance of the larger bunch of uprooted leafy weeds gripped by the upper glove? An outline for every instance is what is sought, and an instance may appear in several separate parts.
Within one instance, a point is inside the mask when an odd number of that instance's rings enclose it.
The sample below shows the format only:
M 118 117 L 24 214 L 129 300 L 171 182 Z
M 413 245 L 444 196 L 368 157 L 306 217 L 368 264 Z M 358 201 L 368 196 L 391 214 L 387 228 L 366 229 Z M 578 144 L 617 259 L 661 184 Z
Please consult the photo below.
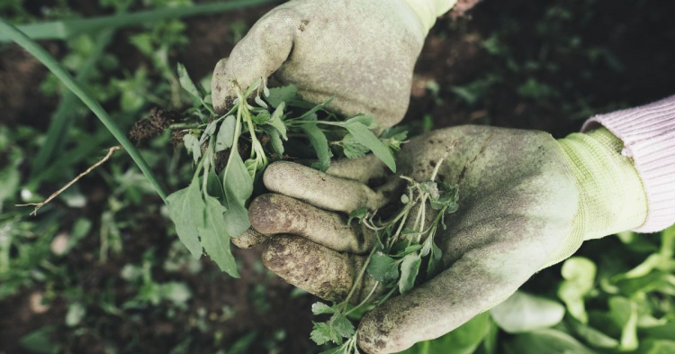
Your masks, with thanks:
M 230 276 L 238 277 L 238 271 L 229 239 L 250 227 L 247 204 L 271 161 L 318 159 L 312 167 L 326 170 L 335 155 L 356 159 L 372 151 L 396 170 L 392 150 L 401 149 L 407 132 L 393 128 L 378 138 L 371 132 L 377 128 L 373 116 L 345 120 L 326 111 L 332 98 L 308 104 L 294 86 L 267 88 L 260 79 L 246 91 L 235 87 L 232 108 L 216 115 L 210 95 L 180 64 L 178 77 L 194 106 L 173 127 L 196 168 L 190 186 L 168 196 L 169 213 L 193 256 L 205 250 Z

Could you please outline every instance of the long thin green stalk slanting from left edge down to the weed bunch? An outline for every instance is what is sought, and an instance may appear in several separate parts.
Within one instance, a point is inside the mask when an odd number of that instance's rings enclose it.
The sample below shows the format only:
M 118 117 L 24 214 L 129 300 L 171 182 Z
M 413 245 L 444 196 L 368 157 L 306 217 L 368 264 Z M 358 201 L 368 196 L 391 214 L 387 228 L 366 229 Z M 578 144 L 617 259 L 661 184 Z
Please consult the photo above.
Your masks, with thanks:
M 150 184 L 155 187 L 157 194 L 164 200 L 166 203 L 166 192 L 164 188 L 159 184 L 157 177 L 152 173 L 152 170 L 148 166 L 148 163 L 140 155 L 139 150 L 136 150 L 136 147 L 133 146 L 131 141 L 127 136 L 121 132 L 120 128 L 112 122 L 112 119 L 105 113 L 101 104 L 96 102 L 94 98 L 88 95 L 85 89 L 76 82 L 76 80 L 70 76 L 70 74 L 63 68 L 54 57 L 52 57 L 47 50 L 44 50 L 38 43 L 32 41 L 28 36 L 23 32 L 19 31 L 12 24 L 7 23 L 4 19 L 0 18 L 0 32 L 4 32 L 9 38 L 20 45 L 24 50 L 31 53 L 36 59 L 40 60 L 45 67 L 58 77 L 58 79 L 63 82 L 67 88 L 69 88 L 79 99 L 86 104 L 89 109 L 96 114 L 101 123 L 112 133 L 112 136 L 120 142 L 120 145 L 126 150 L 131 159 L 136 162 L 136 165 L 139 166 L 140 171 L 148 178 Z

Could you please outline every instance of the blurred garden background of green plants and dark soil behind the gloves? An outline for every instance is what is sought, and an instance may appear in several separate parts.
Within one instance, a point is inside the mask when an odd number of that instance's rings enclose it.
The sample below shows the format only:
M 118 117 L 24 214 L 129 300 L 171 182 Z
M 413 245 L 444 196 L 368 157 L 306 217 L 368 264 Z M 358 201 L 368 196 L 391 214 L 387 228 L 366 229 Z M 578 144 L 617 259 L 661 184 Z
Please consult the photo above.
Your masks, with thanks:
M 204 7 L 225 3 L 237 6 Z M 563 137 L 593 113 L 675 94 L 675 5 L 508 3 L 485 0 L 473 18 L 439 20 L 405 123 L 418 132 L 480 123 Z M 190 103 L 176 62 L 209 86 L 215 62 L 276 4 L 11 0 L 0 14 L 43 36 L 128 131 L 153 107 Z M 132 14 L 151 15 L 120 20 Z M 45 31 L 47 22 L 67 31 Z M 125 153 L 37 216 L 14 207 L 40 202 L 116 143 L 40 62 L 6 41 L 0 106 L 0 353 L 320 351 L 309 340 L 316 299 L 269 274 L 257 250 L 236 251 L 241 279 L 192 259 Z M 167 190 L 187 183 L 190 163 L 168 133 L 138 147 Z M 675 229 L 587 242 L 505 304 L 409 352 L 675 352 L 673 251 Z

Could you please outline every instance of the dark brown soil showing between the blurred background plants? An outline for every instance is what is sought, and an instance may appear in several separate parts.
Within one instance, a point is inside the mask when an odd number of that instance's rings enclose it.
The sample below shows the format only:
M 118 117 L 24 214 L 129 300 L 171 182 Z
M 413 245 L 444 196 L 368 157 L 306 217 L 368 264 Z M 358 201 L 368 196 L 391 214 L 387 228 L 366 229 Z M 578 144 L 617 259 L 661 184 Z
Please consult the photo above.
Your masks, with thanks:
M 74 5 L 86 6 L 83 13 L 90 14 L 90 6 L 86 3 L 76 1 Z M 461 1 L 460 4 L 466 6 L 461 10 L 475 3 L 473 0 Z M 572 13 L 572 18 L 565 20 L 563 10 L 581 3 L 586 14 Z M 675 67 L 671 65 L 675 62 L 675 50 L 672 50 L 675 34 L 668 29 L 672 27 L 670 17 L 675 5 L 669 3 L 657 10 L 646 3 L 485 0 L 468 16 L 456 18 L 459 11 L 449 14 L 429 33 L 415 71 L 405 122 L 415 125 L 430 114 L 436 128 L 490 123 L 543 130 L 555 137 L 563 137 L 578 131 L 583 118 L 591 113 L 644 104 L 672 95 L 675 93 Z M 249 28 L 270 8 L 272 6 L 259 6 L 186 21 L 190 43 L 172 59 L 183 62 L 193 77 L 207 75 L 216 61 L 226 57 L 232 48 L 231 39 L 236 33 L 229 23 L 243 21 Z M 487 40 L 494 38 L 500 42 L 501 53 L 495 54 L 486 45 Z M 560 41 L 569 43 L 561 44 Z M 58 43 L 41 44 L 53 54 L 59 54 Z M 123 65 L 133 67 L 139 60 L 138 53 L 126 43 L 114 46 L 113 51 L 122 59 Z M 0 123 L 10 126 L 22 123 L 46 130 L 47 117 L 57 104 L 54 97 L 45 97 L 38 89 L 47 74 L 46 69 L 14 46 L 4 48 L 0 53 L 0 107 L 3 110 Z M 516 63 L 518 69 L 509 63 Z M 455 94 L 455 87 L 469 86 L 485 79 L 486 75 L 500 78 L 488 85 L 487 94 L 477 102 L 467 103 Z M 531 77 L 554 87 L 555 93 L 538 98 L 522 95 L 518 87 Z M 438 87 L 437 92 L 434 86 Z M 149 124 L 143 132 L 155 128 L 154 123 Z M 87 183 L 91 184 L 85 187 L 90 204 L 97 205 L 87 213 L 92 220 L 98 220 L 105 202 L 101 197 L 104 182 L 93 178 Z M 158 201 L 150 202 L 159 204 Z M 76 216 L 79 215 L 69 215 L 64 224 L 68 224 L 68 220 L 72 222 Z M 125 264 L 139 264 L 148 249 L 154 249 L 157 255 L 166 255 L 169 242 L 165 228 L 166 220 L 148 216 L 138 220 L 133 231 L 124 235 L 124 252 L 107 263 L 97 263 L 92 254 L 99 248 L 97 236 L 85 240 L 88 243 L 82 249 L 89 252 L 71 252 L 59 262 L 84 274 L 71 281 L 85 293 L 96 294 L 106 286 L 113 286 L 115 301 L 121 304 L 132 294 L 125 286 L 111 284 L 110 279 L 118 277 Z M 168 352 L 189 334 L 193 338 L 190 351 L 202 352 L 202 349 L 211 348 L 212 333 L 216 331 L 220 331 L 224 343 L 257 331 L 260 340 L 254 342 L 251 352 L 266 352 L 263 339 L 273 338 L 278 329 L 284 329 L 285 336 L 278 340 L 281 352 L 295 354 L 314 350 L 309 333 L 310 307 L 315 299 L 293 297 L 291 286 L 255 270 L 259 264 L 259 249 L 234 252 L 241 261 L 240 279 L 222 276 L 208 258 L 202 260 L 204 270 L 197 275 L 187 272 L 176 275 L 161 270 L 155 274 L 157 281 L 180 280 L 193 289 L 193 300 L 186 313 L 196 313 L 200 308 L 206 313 L 222 313 L 222 306 L 227 305 L 236 310 L 230 321 L 210 320 L 210 330 L 202 332 L 193 325 L 194 318 L 184 314 L 171 317 L 156 313 L 158 307 L 149 307 L 154 310 L 139 310 L 133 318 L 101 313 L 100 323 L 91 325 L 105 332 L 112 343 L 93 334 L 73 336 L 65 329 L 55 333 L 53 339 L 75 353 L 103 353 L 109 344 L 123 351 L 121 343 L 136 341 L 140 352 Z M 256 295 L 259 285 L 266 288 L 263 300 Z M 54 289 L 41 289 L 48 290 Z M 23 335 L 45 325 L 62 324 L 67 312 L 66 300 L 57 297 L 49 310 L 36 313 L 30 304 L 31 294 L 35 291 L 31 288 L 0 303 L 0 313 L 3 313 L 0 316 L 0 352 L 22 353 L 18 339 Z M 266 303 L 265 310 L 261 310 L 260 301 Z

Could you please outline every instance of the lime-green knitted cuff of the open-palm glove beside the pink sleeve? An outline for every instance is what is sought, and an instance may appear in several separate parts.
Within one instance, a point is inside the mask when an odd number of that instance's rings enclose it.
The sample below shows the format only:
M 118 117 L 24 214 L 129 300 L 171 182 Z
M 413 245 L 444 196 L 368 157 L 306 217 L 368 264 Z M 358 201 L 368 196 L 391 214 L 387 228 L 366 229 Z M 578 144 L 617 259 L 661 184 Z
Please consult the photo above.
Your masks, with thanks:
M 581 242 L 631 230 L 647 219 L 647 195 L 624 142 L 605 128 L 558 141 L 580 188 L 572 234 L 544 268 L 567 259 Z

